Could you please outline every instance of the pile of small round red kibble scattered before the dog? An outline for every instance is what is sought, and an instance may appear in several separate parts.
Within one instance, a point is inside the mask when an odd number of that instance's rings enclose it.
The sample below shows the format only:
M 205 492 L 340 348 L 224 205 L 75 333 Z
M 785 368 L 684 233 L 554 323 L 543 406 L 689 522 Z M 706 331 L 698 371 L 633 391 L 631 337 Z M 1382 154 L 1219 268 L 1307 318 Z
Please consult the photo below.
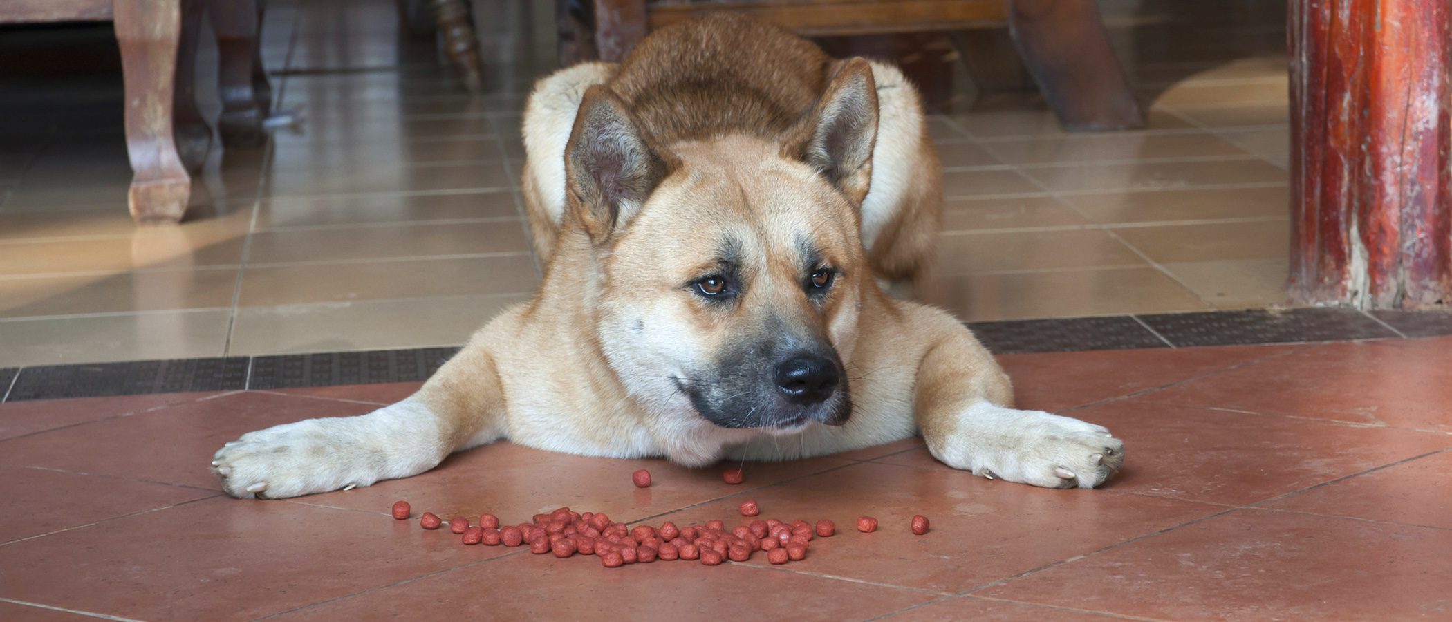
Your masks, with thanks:
M 739 483 L 739 470 L 727 471 L 726 480 Z M 735 477 L 733 477 L 735 476 Z M 649 474 L 636 471 L 632 477 L 636 486 L 650 486 Z M 755 500 L 748 499 L 741 505 L 741 513 L 754 518 L 761 513 Z M 393 518 L 405 521 L 412 515 L 408 502 L 393 503 Z M 424 512 L 418 519 L 424 529 L 439 529 L 443 526 L 433 512 Z M 725 521 L 707 521 L 703 525 L 677 526 L 674 522 L 664 522 L 661 526 L 636 525 L 627 526 L 621 522 L 610 521 L 610 516 L 595 512 L 574 512 L 560 507 L 550 513 L 534 515 L 531 522 L 499 526 L 495 515 L 481 515 L 478 525 L 469 525 L 469 519 L 456 516 L 449 521 L 449 529 L 463 536 L 463 544 L 484 544 L 489 547 L 521 547 L 529 545 L 530 552 L 566 558 L 579 555 L 597 555 L 607 568 L 617 568 L 626 564 L 700 560 L 704 565 L 717 565 L 722 561 L 746 561 L 759 551 L 765 551 L 767 561 L 786 564 L 800 561 L 807 555 L 809 544 L 817 538 L 828 538 L 836 532 L 832 521 L 777 521 L 754 519 L 726 531 Z M 877 519 L 862 516 L 857 519 L 857 529 L 868 534 L 877 531 Z M 928 532 L 925 516 L 912 518 L 912 532 L 923 535 Z

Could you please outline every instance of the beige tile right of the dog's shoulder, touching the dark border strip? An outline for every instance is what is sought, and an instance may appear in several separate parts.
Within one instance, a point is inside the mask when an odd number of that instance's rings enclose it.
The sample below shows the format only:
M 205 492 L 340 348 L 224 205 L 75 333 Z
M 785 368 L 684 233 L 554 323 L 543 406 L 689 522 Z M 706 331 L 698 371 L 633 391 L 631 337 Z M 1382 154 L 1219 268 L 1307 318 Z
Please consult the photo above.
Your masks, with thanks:
M 1151 267 L 948 274 L 931 278 L 921 297 L 968 322 L 1210 309 Z

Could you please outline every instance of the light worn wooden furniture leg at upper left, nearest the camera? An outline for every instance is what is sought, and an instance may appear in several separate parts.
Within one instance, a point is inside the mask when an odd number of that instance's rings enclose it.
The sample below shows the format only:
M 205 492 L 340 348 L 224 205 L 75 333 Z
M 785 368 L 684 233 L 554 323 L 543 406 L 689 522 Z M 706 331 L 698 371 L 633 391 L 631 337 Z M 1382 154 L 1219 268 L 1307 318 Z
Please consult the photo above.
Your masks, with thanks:
M 131 216 L 176 223 L 186 212 L 192 178 L 173 138 L 173 86 L 182 13 L 192 0 L 116 0 L 115 29 L 126 83 L 126 152 L 134 173 Z

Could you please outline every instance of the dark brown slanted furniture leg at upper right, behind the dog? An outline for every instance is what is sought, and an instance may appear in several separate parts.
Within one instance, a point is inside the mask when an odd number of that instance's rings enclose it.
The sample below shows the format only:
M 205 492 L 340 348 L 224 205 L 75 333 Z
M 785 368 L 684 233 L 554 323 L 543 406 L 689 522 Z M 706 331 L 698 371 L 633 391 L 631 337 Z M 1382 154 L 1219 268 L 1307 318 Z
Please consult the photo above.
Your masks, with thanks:
M 1019 57 L 1072 132 L 1144 128 L 1095 0 L 1005 0 Z

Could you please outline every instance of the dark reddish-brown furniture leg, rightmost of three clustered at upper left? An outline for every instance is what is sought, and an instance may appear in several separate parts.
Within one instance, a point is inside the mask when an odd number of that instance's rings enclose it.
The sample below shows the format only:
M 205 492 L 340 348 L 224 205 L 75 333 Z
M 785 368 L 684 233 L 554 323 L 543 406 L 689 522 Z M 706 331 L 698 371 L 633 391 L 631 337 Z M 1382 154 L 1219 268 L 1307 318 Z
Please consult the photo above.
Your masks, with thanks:
M 216 126 L 227 148 L 256 148 L 267 144 L 263 120 L 267 106 L 256 90 L 257 30 L 260 10 L 256 0 L 209 0 L 208 13 L 216 32 L 219 57 L 218 94 L 222 115 Z

